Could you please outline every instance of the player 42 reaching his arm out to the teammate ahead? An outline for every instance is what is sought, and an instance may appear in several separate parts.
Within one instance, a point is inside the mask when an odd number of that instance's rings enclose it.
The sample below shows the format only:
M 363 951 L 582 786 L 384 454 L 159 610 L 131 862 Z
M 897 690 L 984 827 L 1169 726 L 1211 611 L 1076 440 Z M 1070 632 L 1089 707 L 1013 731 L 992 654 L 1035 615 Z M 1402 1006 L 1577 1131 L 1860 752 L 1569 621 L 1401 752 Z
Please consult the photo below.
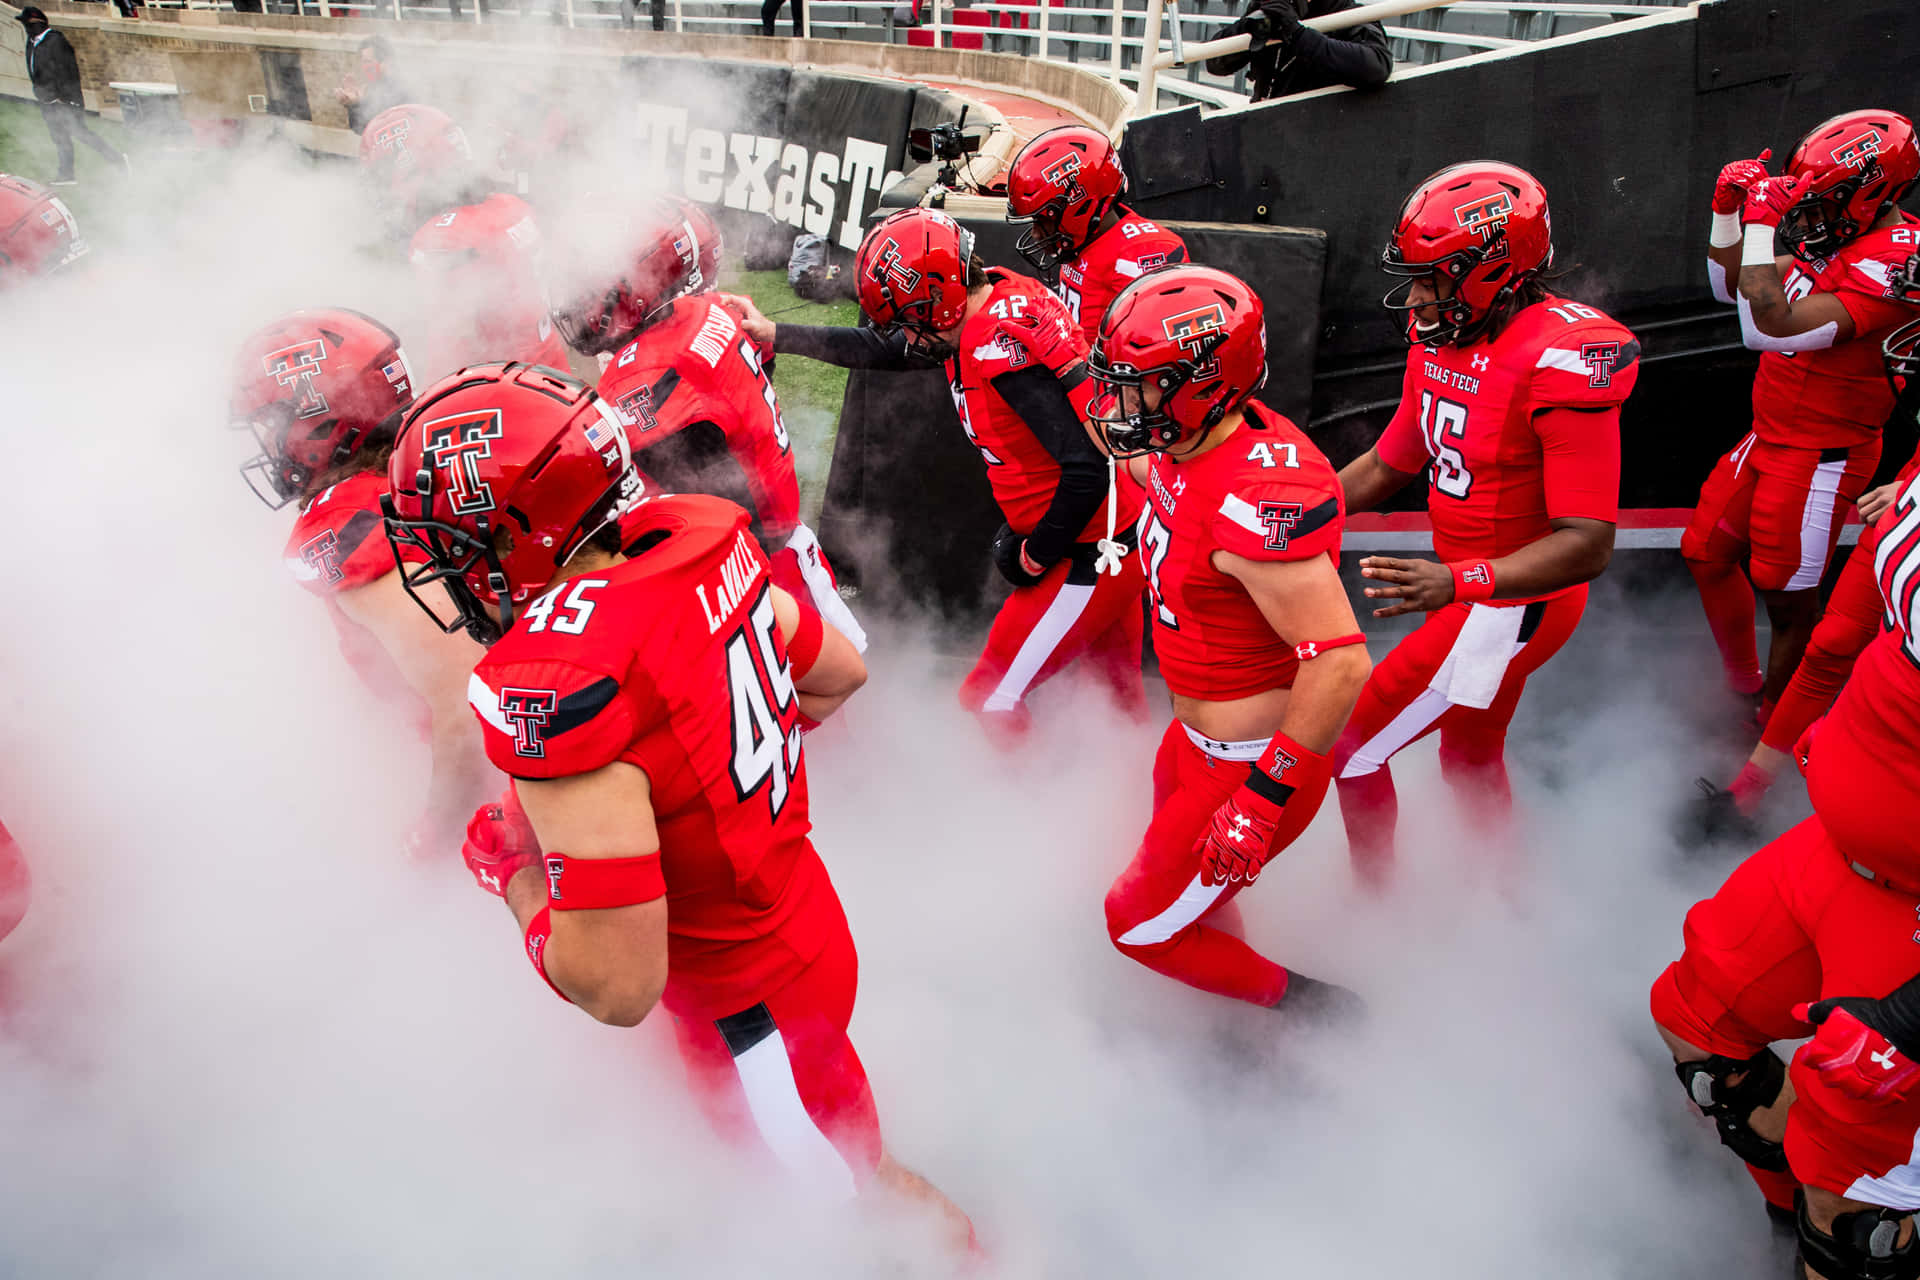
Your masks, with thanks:
M 1139 489 L 1114 478 L 1087 434 L 1087 345 L 1037 280 L 985 267 L 945 213 L 902 209 L 860 244 L 860 309 L 879 328 L 774 324 L 747 297 L 728 305 L 774 351 L 847 368 L 947 367 L 960 430 L 979 449 L 1006 524 L 993 545 L 1012 583 L 960 702 L 1000 743 L 1029 723 L 1027 693 L 1089 656 L 1114 700 L 1146 716 Z M 1104 568 L 1102 568 L 1104 566 Z

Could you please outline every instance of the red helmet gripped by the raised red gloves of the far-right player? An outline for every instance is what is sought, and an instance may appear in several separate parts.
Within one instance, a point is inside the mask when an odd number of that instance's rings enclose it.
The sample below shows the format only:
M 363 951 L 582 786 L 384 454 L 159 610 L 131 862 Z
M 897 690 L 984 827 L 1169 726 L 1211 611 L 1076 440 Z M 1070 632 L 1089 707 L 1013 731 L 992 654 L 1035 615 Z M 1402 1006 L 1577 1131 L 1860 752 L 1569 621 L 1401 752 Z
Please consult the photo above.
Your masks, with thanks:
M 1801 186 L 1780 238 L 1793 257 L 1830 257 L 1907 198 L 1920 177 L 1920 144 L 1899 111 L 1847 111 L 1799 140 L 1788 175 Z

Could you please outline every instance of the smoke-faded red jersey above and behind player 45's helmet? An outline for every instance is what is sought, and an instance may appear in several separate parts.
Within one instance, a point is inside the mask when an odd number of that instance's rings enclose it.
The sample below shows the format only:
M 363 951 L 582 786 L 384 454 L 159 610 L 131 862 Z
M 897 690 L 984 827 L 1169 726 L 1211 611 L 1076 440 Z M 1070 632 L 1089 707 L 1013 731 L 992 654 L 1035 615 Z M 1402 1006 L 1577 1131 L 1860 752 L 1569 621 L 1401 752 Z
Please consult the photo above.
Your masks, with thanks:
M 409 249 L 434 309 L 430 380 L 480 361 L 566 372 L 566 344 L 547 315 L 540 225 L 524 200 L 495 192 L 476 205 L 447 209 L 413 232 Z

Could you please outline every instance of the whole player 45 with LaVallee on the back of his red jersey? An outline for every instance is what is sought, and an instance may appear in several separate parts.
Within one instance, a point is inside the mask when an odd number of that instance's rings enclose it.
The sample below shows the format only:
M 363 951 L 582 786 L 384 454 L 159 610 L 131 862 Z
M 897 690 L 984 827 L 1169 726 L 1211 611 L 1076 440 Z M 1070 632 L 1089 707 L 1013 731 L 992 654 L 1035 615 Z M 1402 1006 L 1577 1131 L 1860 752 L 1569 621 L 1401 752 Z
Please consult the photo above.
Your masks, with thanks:
M 829 1194 L 931 1203 L 966 1238 L 881 1146 L 847 1038 L 852 936 L 808 841 L 799 718 L 866 679 L 860 654 L 770 581 L 739 507 L 657 497 L 622 520 L 626 428 L 574 378 L 440 382 L 390 482 L 388 537 L 424 560 L 407 587 L 445 587 L 436 622 L 490 637 L 472 708 L 545 852 L 476 879 L 540 975 L 603 1023 L 664 1006 L 722 1132 Z

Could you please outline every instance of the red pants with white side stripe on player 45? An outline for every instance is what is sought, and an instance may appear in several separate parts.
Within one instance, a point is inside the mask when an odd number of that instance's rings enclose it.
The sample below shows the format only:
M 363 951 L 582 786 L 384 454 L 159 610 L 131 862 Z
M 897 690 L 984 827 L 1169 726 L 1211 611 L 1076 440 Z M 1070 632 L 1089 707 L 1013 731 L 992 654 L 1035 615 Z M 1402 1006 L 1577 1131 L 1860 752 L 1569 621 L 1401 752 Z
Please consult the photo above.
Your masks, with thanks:
M 847 1038 L 860 961 L 843 927 L 764 1002 L 718 1021 L 676 1017 L 693 1094 L 722 1138 L 851 1197 L 879 1167 L 879 1113 Z

